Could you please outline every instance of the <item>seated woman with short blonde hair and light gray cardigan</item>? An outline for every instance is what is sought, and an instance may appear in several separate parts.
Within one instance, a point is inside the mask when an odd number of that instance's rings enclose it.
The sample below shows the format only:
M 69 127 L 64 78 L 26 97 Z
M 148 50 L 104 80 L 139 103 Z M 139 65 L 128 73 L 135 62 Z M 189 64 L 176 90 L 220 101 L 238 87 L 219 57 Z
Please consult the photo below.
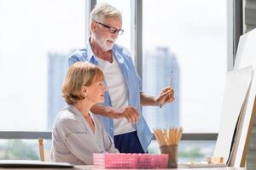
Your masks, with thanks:
M 93 163 L 93 153 L 119 152 L 90 111 L 92 105 L 104 101 L 106 90 L 102 70 L 96 65 L 77 62 L 69 67 L 62 85 L 67 107 L 59 112 L 52 131 L 52 161 L 88 165 Z

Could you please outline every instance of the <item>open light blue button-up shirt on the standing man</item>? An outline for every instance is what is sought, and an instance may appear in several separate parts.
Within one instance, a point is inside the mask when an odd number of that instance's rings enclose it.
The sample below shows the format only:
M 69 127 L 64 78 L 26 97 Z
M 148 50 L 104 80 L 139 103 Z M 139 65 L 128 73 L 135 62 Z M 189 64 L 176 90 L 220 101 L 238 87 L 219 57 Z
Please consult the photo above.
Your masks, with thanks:
M 117 44 L 113 45 L 113 57 L 117 60 L 120 70 L 123 73 L 126 87 L 128 88 L 128 102 L 129 105 L 135 107 L 140 112 L 140 118 L 136 123 L 137 136 L 142 144 L 143 150 L 148 150 L 148 145 L 152 139 L 152 133 L 148 128 L 147 123 L 144 120 L 141 110 L 140 92 L 141 92 L 141 80 L 137 75 L 137 71 L 133 65 L 131 54 L 126 48 L 123 48 Z M 90 42 L 86 44 L 86 48 L 75 51 L 68 58 L 68 65 L 73 65 L 75 62 L 84 61 L 90 62 L 94 65 L 98 65 L 98 61 L 93 54 L 90 47 Z M 104 94 L 105 102 L 104 105 L 112 106 L 111 99 L 108 91 Z M 97 115 L 98 116 L 98 115 Z M 111 137 L 113 137 L 113 119 L 107 116 L 98 116 L 103 122 L 104 127 L 108 131 Z

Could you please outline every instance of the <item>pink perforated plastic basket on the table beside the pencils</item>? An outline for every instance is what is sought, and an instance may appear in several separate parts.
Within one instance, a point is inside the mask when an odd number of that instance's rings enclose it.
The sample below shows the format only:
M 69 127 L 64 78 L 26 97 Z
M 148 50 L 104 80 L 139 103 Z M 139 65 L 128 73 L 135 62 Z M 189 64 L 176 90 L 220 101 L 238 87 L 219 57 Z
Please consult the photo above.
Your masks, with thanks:
M 168 155 L 93 154 L 93 161 L 100 168 L 166 168 Z

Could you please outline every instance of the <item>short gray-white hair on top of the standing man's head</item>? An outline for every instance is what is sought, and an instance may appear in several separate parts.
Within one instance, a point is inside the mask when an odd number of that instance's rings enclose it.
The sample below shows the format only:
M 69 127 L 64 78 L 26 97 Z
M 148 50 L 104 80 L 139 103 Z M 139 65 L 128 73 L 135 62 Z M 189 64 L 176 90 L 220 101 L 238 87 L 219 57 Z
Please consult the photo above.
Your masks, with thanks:
M 100 22 L 105 17 L 113 17 L 122 20 L 122 14 L 119 9 L 108 3 L 98 3 L 90 13 L 90 24 L 93 20 Z

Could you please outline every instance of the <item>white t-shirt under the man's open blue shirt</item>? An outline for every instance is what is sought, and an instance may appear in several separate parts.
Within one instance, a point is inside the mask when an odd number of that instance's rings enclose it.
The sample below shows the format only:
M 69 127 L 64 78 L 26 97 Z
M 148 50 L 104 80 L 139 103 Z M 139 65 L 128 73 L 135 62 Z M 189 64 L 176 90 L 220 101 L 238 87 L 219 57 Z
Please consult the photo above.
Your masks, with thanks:
M 98 57 L 96 59 L 103 70 L 113 108 L 124 108 L 128 105 L 128 90 L 119 64 L 114 57 L 112 63 Z M 113 135 L 131 133 L 133 131 L 136 131 L 135 125 L 127 122 L 125 117 L 113 119 Z

